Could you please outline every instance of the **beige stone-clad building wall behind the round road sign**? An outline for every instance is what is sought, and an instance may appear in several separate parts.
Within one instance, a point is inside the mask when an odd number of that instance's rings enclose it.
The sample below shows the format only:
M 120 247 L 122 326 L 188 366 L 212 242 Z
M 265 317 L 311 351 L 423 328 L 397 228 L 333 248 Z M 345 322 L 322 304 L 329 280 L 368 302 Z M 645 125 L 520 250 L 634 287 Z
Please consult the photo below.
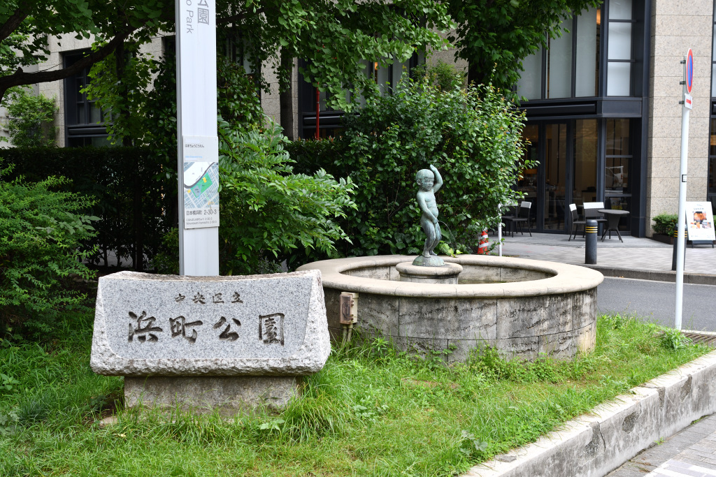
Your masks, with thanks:
M 712 55 L 712 0 L 652 2 L 649 131 L 647 149 L 647 235 L 652 217 L 676 213 L 679 203 L 683 65 L 694 53 L 690 113 L 687 200 L 705 200 Z

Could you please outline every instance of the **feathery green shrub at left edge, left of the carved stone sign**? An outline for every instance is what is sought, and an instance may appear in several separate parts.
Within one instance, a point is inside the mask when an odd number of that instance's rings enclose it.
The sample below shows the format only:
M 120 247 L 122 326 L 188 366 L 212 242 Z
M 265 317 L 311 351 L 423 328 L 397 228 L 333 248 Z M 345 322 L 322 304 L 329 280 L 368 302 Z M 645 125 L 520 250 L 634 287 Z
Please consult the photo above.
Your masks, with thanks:
M 8 169 L 0 170 L 0 179 Z M 0 333 L 22 325 L 32 334 L 52 330 L 60 310 L 82 305 L 77 280 L 92 278 L 79 252 L 95 235 L 97 217 L 82 215 L 86 197 L 55 192 L 66 180 L 22 178 L 0 187 Z

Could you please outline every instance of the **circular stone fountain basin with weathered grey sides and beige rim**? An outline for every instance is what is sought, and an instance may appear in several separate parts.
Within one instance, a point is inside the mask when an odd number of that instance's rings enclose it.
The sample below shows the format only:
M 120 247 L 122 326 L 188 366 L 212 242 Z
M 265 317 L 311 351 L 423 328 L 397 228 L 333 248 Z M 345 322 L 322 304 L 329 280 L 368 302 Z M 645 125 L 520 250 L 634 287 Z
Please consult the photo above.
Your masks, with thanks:
M 594 349 L 601 273 L 556 262 L 460 255 L 442 257 L 445 265 L 462 267 L 457 283 L 401 280 L 405 274 L 399 270 L 414 258 L 342 258 L 299 270 L 321 270 L 334 338 L 341 335 L 339 296 L 354 292 L 363 336 L 417 353 L 450 349 L 449 362 L 465 361 L 470 350 L 485 345 L 526 360 L 541 353 L 572 358 Z

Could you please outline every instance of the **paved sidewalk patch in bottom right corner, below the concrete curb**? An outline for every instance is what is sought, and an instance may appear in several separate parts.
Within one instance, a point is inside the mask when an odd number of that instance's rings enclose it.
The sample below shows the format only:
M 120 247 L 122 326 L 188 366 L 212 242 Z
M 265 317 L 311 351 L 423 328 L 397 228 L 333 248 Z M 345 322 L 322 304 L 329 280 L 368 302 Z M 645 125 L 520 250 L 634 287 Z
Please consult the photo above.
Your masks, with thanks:
M 607 477 L 716 477 L 716 414 L 642 451 Z

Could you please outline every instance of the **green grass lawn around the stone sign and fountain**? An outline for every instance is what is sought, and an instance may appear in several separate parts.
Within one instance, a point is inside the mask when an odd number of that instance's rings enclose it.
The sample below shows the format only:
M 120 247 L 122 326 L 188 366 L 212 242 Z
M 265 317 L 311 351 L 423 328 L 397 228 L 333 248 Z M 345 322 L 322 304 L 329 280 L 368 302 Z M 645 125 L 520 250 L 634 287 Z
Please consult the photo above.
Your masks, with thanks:
M 445 367 L 378 340 L 335 351 L 282 413 L 120 410 L 100 428 L 122 379 L 89 369 L 80 318 L 44 345 L 0 341 L 0 476 L 452 476 L 708 350 L 621 316 L 569 363 Z

